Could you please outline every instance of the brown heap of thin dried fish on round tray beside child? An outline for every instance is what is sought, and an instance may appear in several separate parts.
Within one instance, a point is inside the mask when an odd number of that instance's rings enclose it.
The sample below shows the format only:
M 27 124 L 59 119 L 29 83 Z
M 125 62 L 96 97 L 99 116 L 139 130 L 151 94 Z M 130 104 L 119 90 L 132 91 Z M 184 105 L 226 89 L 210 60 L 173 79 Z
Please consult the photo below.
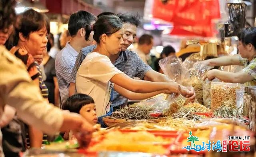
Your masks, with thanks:
M 126 119 L 126 120 L 149 120 L 152 119 L 150 112 L 138 107 L 125 107 L 120 110 L 116 110 L 110 116 L 112 119 Z

